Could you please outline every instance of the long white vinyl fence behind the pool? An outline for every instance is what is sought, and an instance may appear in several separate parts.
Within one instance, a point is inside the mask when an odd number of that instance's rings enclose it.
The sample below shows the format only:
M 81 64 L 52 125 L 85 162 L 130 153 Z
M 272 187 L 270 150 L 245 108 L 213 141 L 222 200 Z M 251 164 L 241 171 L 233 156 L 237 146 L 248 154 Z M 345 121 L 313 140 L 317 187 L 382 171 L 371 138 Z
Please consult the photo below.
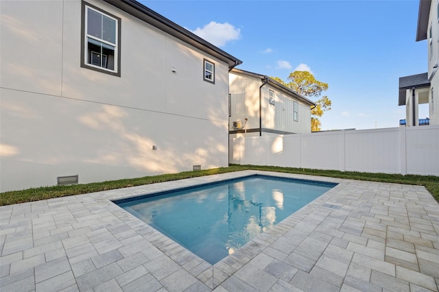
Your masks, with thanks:
M 439 176 L 439 125 L 230 138 L 229 162 Z

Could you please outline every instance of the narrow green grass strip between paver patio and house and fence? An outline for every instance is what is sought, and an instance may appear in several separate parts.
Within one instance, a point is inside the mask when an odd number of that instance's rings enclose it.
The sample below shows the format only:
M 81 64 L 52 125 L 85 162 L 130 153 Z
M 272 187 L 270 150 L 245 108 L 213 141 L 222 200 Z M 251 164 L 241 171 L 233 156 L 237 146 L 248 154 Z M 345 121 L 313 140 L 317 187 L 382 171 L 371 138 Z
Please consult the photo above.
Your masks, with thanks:
M 41 188 L 29 188 L 23 191 L 10 191 L 0 193 L 0 206 L 18 204 L 24 202 L 38 201 L 40 199 L 51 199 L 68 195 L 80 195 L 98 191 L 107 191 L 115 188 L 126 188 L 129 186 L 140 186 L 143 184 L 154 184 L 155 182 L 167 182 L 169 180 L 181 180 L 203 175 L 227 173 L 231 171 L 242 171 L 256 169 L 261 171 L 277 171 L 285 173 L 300 173 L 306 175 L 320 175 L 331 178 L 346 178 L 350 180 L 369 180 L 372 182 L 392 182 L 396 184 L 416 184 L 425 186 L 439 202 L 439 178 L 433 175 L 400 175 L 386 173 L 362 173 L 353 171 L 332 171 L 318 169 L 296 169 L 291 167 L 264 167 L 257 165 L 230 165 L 218 169 L 207 169 L 201 171 L 185 171 L 181 173 L 145 176 L 144 178 L 132 178 L 125 180 L 112 180 L 108 182 L 93 182 L 91 184 L 75 184 L 73 186 L 46 186 Z

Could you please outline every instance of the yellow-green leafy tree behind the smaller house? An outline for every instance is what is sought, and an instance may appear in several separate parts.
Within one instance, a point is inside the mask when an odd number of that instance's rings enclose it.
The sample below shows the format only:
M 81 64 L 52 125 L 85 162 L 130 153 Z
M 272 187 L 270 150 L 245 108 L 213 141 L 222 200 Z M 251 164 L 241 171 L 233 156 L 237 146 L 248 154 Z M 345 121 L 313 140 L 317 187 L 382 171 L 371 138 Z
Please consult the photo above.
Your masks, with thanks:
M 291 88 L 296 93 L 304 97 L 320 97 L 322 91 L 328 90 L 328 84 L 316 80 L 316 78 L 308 71 L 294 71 L 289 74 L 289 82 L 283 82 L 279 77 L 272 77 L 277 82 Z M 324 112 L 331 110 L 331 99 L 326 95 L 315 102 L 316 107 L 311 107 L 311 131 L 320 131 L 320 120 Z

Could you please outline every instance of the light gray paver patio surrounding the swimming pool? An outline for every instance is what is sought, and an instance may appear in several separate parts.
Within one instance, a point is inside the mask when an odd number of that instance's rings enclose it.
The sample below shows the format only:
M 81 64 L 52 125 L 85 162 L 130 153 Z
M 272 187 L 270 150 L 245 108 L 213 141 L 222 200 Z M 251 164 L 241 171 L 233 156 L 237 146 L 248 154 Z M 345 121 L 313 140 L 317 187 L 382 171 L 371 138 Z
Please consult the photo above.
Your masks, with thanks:
M 110 201 L 254 173 L 339 184 L 215 265 Z M 439 205 L 423 186 L 240 171 L 0 216 L 1 291 L 439 290 Z

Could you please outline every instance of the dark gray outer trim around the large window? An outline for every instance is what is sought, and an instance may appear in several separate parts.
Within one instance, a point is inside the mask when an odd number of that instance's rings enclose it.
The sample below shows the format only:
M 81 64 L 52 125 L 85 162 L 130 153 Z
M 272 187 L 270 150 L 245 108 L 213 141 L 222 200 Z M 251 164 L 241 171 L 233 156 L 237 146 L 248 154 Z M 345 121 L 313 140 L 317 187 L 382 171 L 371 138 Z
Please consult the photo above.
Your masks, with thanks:
M 85 6 L 89 6 L 91 8 L 94 8 L 95 10 L 98 10 L 99 12 L 102 12 L 102 14 L 107 14 L 108 16 L 111 16 L 114 19 L 117 19 L 117 71 L 116 72 L 110 72 L 106 71 L 104 69 L 99 69 L 94 66 L 89 66 L 84 60 L 85 60 Z M 90 3 L 86 1 L 81 1 L 81 67 L 90 69 L 93 71 L 106 73 L 108 75 L 121 77 L 121 19 L 111 13 L 106 12 L 105 10 L 102 10 L 101 8 L 96 7 L 95 5 L 91 5 Z

